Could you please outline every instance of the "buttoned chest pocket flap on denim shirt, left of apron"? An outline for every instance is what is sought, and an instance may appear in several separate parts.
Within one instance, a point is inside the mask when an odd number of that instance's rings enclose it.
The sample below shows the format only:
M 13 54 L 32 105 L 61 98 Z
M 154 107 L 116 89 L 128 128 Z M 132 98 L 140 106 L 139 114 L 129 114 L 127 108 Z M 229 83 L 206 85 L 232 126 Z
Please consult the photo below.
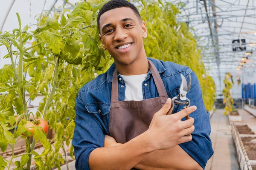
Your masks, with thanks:
M 105 115 L 110 112 L 111 106 L 103 103 L 94 103 L 86 106 L 86 108 L 89 113 L 97 113 L 97 114 Z

